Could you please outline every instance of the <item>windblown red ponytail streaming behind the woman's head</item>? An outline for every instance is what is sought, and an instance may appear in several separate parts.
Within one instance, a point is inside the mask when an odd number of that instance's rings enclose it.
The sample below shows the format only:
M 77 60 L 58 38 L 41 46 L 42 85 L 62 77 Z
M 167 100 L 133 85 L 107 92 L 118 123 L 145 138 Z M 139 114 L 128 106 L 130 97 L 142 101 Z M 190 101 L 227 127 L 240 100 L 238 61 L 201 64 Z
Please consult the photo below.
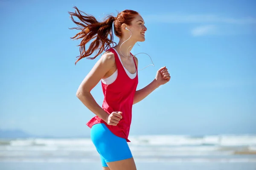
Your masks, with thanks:
M 71 16 L 71 19 L 74 23 L 76 23 L 76 28 L 69 28 L 69 29 L 77 29 L 81 30 L 78 34 L 76 34 L 74 37 L 70 37 L 71 39 L 78 40 L 82 39 L 79 48 L 80 56 L 77 56 L 76 58 L 79 58 L 76 60 L 76 63 L 84 58 L 87 57 L 88 59 L 95 59 L 99 54 L 101 54 L 104 50 L 106 51 L 108 48 L 111 48 L 111 44 L 116 44 L 113 42 L 113 30 L 112 25 L 116 17 L 113 17 L 112 15 L 108 15 L 105 20 L 100 23 L 96 20 L 95 17 L 89 14 L 85 14 L 82 11 L 79 11 L 77 7 L 73 7 L 76 9 L 74 12 L 68 12 Z M 82 14 L 84 15 L 82 15 Z M 80 22 L 77 22 L 74 20 L 74 17 L 78 17 Z M 110 38 L 108 38 L 108 35 L 110 35 Z M 96 38 L 96 39 L 95 39 Z M 95 39 L 95 40 L 93 40 Z M 85 45 L 90 41 L 93 40 L 93 42 L 90 43 L 89 48 L 86 50 Z M 88 57 L 91 54 L 93 54 L 94 51 L 99 50 L 95 57 Z

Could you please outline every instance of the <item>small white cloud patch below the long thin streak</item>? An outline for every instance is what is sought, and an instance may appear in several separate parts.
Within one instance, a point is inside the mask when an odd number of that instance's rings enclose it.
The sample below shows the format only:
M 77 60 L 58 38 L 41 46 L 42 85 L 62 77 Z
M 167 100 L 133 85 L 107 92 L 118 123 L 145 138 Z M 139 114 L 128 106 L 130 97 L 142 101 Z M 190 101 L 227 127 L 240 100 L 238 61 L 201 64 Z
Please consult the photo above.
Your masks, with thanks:
M 199 26 L 191 31 L 193 36 L 203 36 L 207 34 L 216 34 L 216 26 L 207 25 L 207 26 Z

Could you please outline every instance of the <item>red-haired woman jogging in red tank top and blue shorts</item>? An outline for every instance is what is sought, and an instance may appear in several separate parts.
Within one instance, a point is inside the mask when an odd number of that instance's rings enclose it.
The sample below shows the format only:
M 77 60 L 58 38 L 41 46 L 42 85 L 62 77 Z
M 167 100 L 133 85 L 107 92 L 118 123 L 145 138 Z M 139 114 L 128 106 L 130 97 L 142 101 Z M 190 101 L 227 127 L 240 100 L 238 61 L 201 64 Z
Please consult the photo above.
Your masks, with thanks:
M 157 71 L 155 79 L 145 88 L 136 91 L 138 84 L 138 59 L 130 51 L 136 42 L 145 41 L 144 20 L 136 11 L 125 10 L 113 17 L 109 15 L 103 22 L 79 11 L 69 12 L 71 19 L 81 30 L 73 39 L 81 38 L 80 56 L 76 61 L 88 57 L 97 49 L 96 58 L 106 51 L 96 62 L 89 74 L 81 82 L 76 96 L 96 116 L 87 126 L 91 128 L 91 139 L 98 151 L 103 170 L 136 170 L 129 149 L 128 134 L 131 125 L 132 105 L 140 102 L 160 85 L 169 82 L 170 74 L 166 67 Z M 80 22 L 73 19 L 78 17 Z M 111 48 L 113 31 L 119 43 Z M 74 28 L 71 28 L 74 29 Z M 109 36 L 109 38 L 108 38 Z M 89 48 L 85 44 L 93 40 Z M 101 81 L 104 101 L 100 107 L 90 91 Z

